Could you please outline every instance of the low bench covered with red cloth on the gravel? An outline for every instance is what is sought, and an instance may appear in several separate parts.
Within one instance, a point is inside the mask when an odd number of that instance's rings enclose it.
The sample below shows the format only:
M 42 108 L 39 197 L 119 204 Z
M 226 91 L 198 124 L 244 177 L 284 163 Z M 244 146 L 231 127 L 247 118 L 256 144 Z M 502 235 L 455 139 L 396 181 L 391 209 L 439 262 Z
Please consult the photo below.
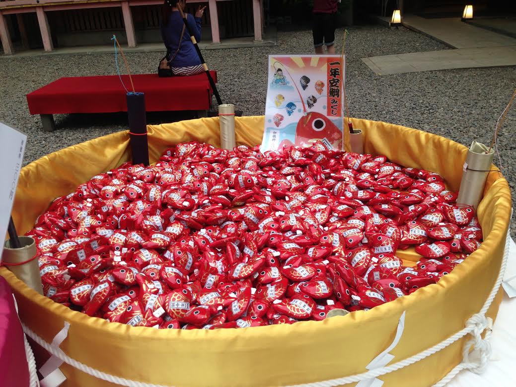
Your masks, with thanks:
M 217 72 L 211 71 L 217 82 Z M 195 110 L 200 116 L 212 106 L 213 90 L 205 73 L 160 78 L 133 75 L 135 91 L 145 93 L 147 111 Z M 122 75 L 132 91 L 128 75 Z M 53 114 L 127 111 L 126 91 L 118 75 L 65 77 L 27 94 L 30 114 L 41 115 L 43 130 L 54 130 Z

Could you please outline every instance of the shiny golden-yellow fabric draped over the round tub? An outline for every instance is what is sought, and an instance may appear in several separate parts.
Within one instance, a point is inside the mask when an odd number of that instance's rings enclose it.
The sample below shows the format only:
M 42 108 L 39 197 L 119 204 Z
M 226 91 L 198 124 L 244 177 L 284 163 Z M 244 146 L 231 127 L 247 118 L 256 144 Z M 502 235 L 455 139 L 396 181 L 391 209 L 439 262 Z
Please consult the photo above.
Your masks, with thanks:
M 383 122 L 353 119 L 365 136 L 365 151 L 384 154 L 404 166 L 440 173 L 458 190 L 466 148 L 443 137 Z M 259 144 L 264 117 L 236 118 L 238 144 Z M 155 162 L 170 144 L 201 140 L 218 145 L 218 118 L 150 125 L 149 149 Z M 13 217 L 21 233 L 50 201 L 66 195 L 91 176 L 130 159 L 127 131 L 94 139 L 47 155 L 21 171 Z M 5 268 L 0 275 L 13 287 L 21 319 L 51 342 L 70 322 L 61 345 L 72 358 L 120 377 L 174 386 L 291 385 L 365 372 L 388 346 L 406 311 L 405 331 L 391 353 L 394 361 L 427 349 L 463 328 L 477 313 L 498 275 L 511 209 L 507 182 L 491 173 L 478 216 L 485 241 L 439 283 L 381 305 L 324 321 L 249 329 L 155 330 L 91 318 L 40 296 Z M 416 261 L 410 254 L 404 259 Z M 495 317 L 501 293 L 488 313 Z M 381 377 L 385 387 L 426 386 L 461 360 L 461 340 L 433 356 Z M 36 350 L 38 361 L 43 360 Z M 110 386 L 68 365 L 63 386 Z

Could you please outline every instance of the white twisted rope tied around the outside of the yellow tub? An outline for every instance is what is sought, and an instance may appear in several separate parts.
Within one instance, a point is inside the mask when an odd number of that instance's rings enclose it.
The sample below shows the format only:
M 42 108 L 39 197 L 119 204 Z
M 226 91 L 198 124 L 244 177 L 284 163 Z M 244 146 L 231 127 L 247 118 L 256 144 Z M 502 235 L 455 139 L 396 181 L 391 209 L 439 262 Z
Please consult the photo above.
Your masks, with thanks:
M 466 334 L 472 334 L 473 338 L 466 342 L 463 349 L 463 361 L 457 365 L 454 369 L 451 370 L 448 375 L 446 375 L 441 381 L 439 381 L 434 387 L 441 387 L 445 385 L 447 382 L 449 382 L 455 375 L 457 375 L 462 369 L 470 369 L 473 372 L 481 373 L 483 370 L 485 370 L 487 366 L 487 362 L 489 360 L 489 356 L 491 354 L 491 346 L 489 343 L 489 338 L 491 336 L 491 325 L 492 320 L 491 318 L 486 318 L 485 314 L 488 311 L 489 307 L 491 306 L 491 303 L 494 300 L 494 297 L 498 293 L 498 289 L 500 288 L 500 285 L 502 284 L 503 278 L 504 278 L 504 272 L 505 267 L 507 265 L 507 260 L 509 256 L 509 241 L 510 241 L 510 229 L 507 231 L 507 239 L 505 244 L 505 251 L 504 256 L 502 259 L 502 265 L 500 267 L 500 272 L 498 273 L 498 278 L 496 279 L 496 282 L 491 290 L 491 293 L 489 294 L 489 297 L 486 299 L 486 302 L 484 303 L 482 309 L 473 316 L 471 316 L 466 321 L 465 327 L 460 330 L 459 332 L 455 333 L 454 335 L 448 337 L 446 340 L 442 341 L 439 344 L 434 345 L 431 348 L 428 348 L 420 353 L 415 354 L 414 356 L 401 360 L 397 363 L 372 369 L 368 372 L 357 374 L 357 375 L 351 375 L 351 376 L 345 376 L 343 378 L 337 378 L 337 379 L 330 379 L 330 380 L 324 380 L 319 382 L 313 382 L 313 383 L 305 383 L 305 384 L 296 384 L 289 387 L 336 387 L 342 384 L 348 384 L 348 383 L 356 383 L 361 380 L 367 380 L 376 378 L 381 375 L 389 374 L 391 372 L 394 372 L 398 369 L 404 368 L 408 365 L 414 364 L 420 360 L 423 360 L 432 354 L 439 352 L 440 350 L 446 348 L 450 344 L 455 343 L 460 338 L 464 337 Z M 82 372 L 94 376 L 96 378 L 109 381 L 111 383 L 116 383 L 120 385 L 124 385 L 127 387 L 168 387 L 164 385 L 157 385 L 157 384 L 151 384 L 151 383 L 144 383 L 129 379 L 120 378 L 118 376 L 106 374 L 104 372 L 101 372 L 97 369 L 91 368 L 87 366 L 86 364 L 80 363 L 75 359 L 70 358 L 65 352 L 63 352 L 60 348 L 53 348 L 49 343 L 45 342 L 40 336 L 38 336 L 35 332 L 33 332 L 30 328 L 28 328 L 25 324 L 23 324 L 23 330 L 25 333 L 31 337 L 36 343 L 38 343 L 40 346 L 42 346 L 46 351 L 51 353 L 53 356 L 58 357 L 63 362 L 70 364 L 71 366 L 81 370 Z M 481 333 L 483 331 L 488 329 L 486 332 L 486 337 L 482 339 Z M 479 361 L 473 362 L 469 359 L 469 353 L 471 346 L 474 346 L 474 349 L 478 350 L 479 352 Z

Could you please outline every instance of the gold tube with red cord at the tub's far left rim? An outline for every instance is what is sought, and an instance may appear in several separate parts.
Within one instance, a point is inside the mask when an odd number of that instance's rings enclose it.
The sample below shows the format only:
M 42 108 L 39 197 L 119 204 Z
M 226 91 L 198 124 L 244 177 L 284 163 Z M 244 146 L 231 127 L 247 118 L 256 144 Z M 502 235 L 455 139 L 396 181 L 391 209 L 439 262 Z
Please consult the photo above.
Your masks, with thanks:
M 36 255 L 36 243 L 30 236 L 20 236 L 20 249 L 11 249 L 10 240 L 6 240 L 4 244 L 4 252 L 2 253 L 2 263 L 11 270 L 15 276 L 33 288 L 36 292 L 43 295 L 43 286 L 41 285 L 41 277 L 39 275 L 38 259 L 29 261 Z M 13 266 L 9 264 L 17 264 L 29 261 L 26 264 Z

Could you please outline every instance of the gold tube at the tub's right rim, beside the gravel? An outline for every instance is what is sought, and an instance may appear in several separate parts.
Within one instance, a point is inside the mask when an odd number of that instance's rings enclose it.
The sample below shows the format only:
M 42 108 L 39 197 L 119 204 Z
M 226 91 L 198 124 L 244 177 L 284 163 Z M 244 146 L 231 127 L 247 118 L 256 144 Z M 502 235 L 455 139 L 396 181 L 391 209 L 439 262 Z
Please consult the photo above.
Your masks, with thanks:
M 482 200 L 483 189 L 487 176 L 493 164 L 494 149 L 489 152 L 488 147 L 480 142 L 473 141 L 467 151 L 466 161 L 462 168 L 458 204 L 472 205 L 477 209 Z

